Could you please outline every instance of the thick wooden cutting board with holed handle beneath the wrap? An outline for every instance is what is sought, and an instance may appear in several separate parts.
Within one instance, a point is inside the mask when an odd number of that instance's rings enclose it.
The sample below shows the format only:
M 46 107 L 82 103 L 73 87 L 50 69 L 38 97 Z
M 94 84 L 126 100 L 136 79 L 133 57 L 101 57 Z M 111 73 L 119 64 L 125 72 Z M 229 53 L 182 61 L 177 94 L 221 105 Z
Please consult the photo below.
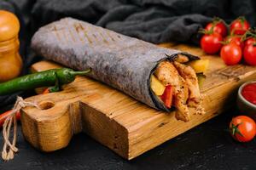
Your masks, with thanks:
M 84 132 L 119 156 L 131 160 L 236 106 L 236 89 L 242 82 L 256 79 L 255 67 L 227 67 L 217 55 L 209 56 L 200 48 L 183 44 L 165 43 L 161 46 L 211 60 L 207 80 L 201 88 L 205 96 L 205 115 L 193 115 L 189 122 L 177 121 L 174 113 L 156 111 L 101 82 L 77 77 L 61 92 L 26 99 L 37 102 L 41 110 L 34 107 L 22 110 L 25 139 L 39 150 L 49 152 L 66 147 L 73 134 Z M 41 61 L 32 65 L 32 71 L 56 67 L 60 65 Z

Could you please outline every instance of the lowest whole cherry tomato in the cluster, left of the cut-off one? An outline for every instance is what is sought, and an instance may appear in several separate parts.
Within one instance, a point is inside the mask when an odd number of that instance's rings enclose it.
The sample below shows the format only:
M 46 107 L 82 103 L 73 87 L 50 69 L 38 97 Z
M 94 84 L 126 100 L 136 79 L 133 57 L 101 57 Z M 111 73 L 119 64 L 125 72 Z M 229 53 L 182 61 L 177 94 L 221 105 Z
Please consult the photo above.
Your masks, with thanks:
M 221 48 L 220 57 L 226 65 L 236 65 L 241 61 L 241 48 L 236 43 L 226 44 Z

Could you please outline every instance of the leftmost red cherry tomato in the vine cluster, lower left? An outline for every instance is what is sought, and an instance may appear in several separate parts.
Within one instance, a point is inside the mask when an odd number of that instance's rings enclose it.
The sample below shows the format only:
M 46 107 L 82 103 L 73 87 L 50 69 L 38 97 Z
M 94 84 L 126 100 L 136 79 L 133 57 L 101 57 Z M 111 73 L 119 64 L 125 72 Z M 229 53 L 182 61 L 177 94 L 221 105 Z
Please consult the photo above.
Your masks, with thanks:
M 223 38 L 218 33 L 205 34 L 201 37 L 201 48 L 207 54 L 216 54 L 222 47 Z

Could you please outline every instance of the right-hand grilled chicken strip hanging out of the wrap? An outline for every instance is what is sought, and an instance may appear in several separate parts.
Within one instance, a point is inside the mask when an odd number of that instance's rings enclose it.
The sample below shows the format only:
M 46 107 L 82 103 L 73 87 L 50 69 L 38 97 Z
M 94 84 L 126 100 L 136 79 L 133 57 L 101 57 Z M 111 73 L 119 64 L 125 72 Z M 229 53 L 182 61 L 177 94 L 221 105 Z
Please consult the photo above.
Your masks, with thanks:
M 177 68 L 178 73 L 184 78 L 189 86 L 188 105 L 190 107 L 194 107 L 197 113 L 202 114 L 202 98 L 195 71 L 189 65 L 183 65 L 178 63 L 177 61 L 174 61 L 173 65 Z

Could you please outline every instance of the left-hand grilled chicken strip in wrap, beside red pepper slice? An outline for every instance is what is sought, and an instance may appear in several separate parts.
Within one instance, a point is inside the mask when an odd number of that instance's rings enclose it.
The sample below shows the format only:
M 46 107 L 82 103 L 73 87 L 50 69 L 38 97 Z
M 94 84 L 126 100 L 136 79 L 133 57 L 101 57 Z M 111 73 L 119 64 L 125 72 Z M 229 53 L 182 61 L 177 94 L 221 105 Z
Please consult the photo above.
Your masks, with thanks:
M 169 61 L 162 61 L 154 75 L 162 82 L 167 85 L 170 84 L 174 91 L 174 106 L 177 108 L 176 118 L 188 122 L 190 119 L 189 108 L 186 105 L 187 99 L 189 98 L 189 88 L 183 77 L 181 77 L 177 69 Z

